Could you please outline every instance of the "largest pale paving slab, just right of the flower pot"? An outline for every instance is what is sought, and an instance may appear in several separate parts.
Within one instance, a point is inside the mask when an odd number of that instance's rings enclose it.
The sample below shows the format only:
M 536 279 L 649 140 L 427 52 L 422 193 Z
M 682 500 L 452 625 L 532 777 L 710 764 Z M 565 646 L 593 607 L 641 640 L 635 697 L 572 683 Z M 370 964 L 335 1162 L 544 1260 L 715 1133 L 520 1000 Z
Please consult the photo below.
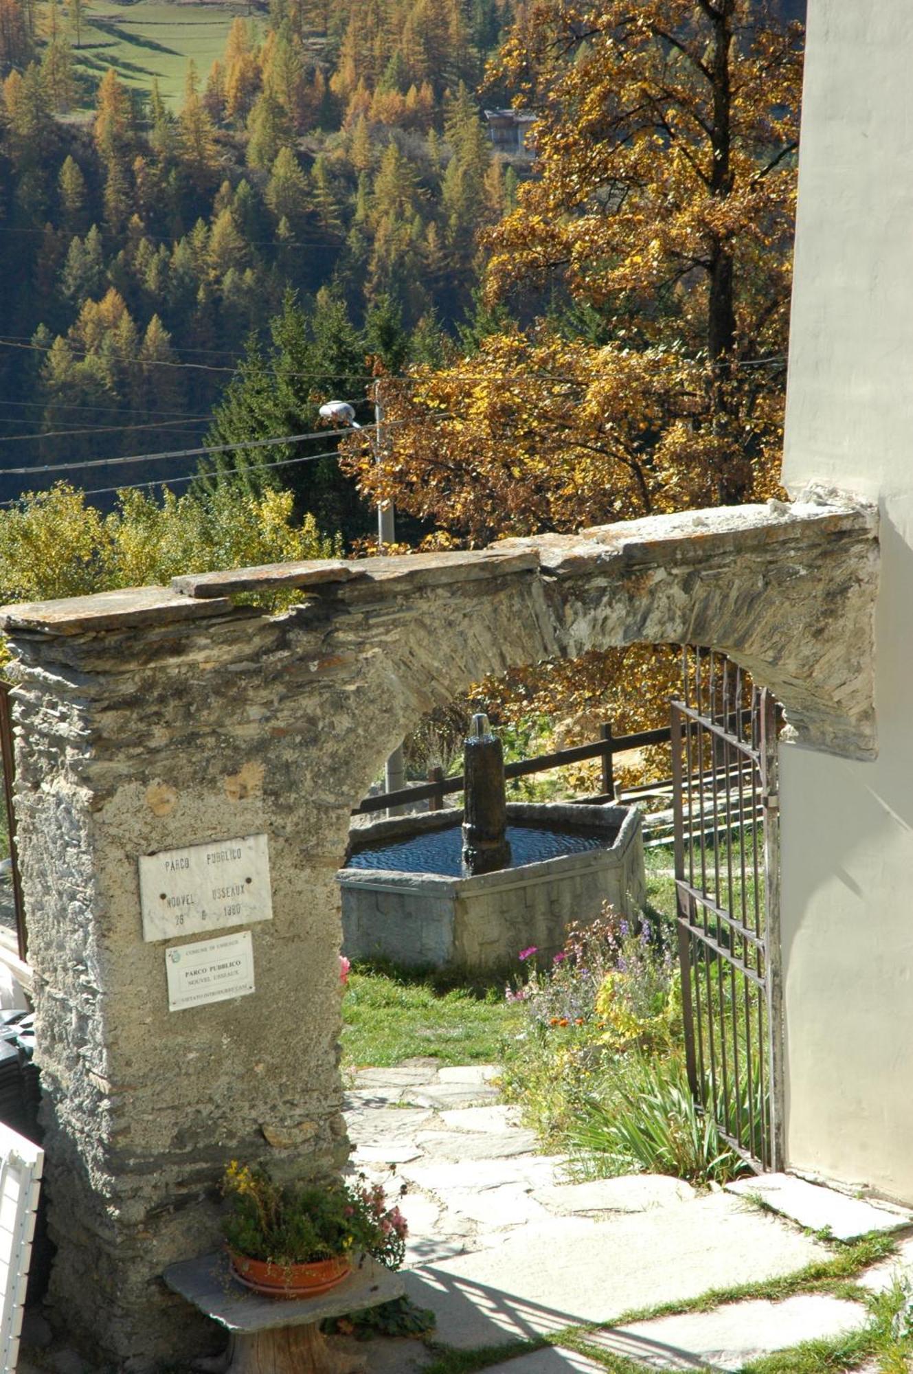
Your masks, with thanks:
M 707 1289 L 792 1274 L 830 1249 L 725 1193 L 610 1221 L 562 1217 L 404 1275 L 461 1348 L 549 1334 Z

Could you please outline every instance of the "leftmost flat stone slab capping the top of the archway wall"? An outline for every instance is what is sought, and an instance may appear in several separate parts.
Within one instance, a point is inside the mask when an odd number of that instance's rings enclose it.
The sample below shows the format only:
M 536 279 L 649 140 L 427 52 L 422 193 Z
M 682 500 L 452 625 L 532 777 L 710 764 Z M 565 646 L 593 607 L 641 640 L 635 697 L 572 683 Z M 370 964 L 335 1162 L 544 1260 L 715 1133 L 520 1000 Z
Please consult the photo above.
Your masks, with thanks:
M 122 587 L 63 600 L 0 606 L 0 629 L 38 629 L 54 635 L 91 635 L 99 629 L 160 625 L 234 610 L 230 600 L 192 602 L 166 587 Z

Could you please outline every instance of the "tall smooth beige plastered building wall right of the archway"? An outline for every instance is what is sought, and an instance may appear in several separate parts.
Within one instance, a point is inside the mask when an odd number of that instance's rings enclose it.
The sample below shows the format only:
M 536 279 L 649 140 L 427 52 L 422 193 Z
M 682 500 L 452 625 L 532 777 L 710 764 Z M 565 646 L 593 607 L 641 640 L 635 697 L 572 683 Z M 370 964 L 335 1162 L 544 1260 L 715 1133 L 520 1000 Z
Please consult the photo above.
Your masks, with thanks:
M 879 757 L 786 746 L 789 1164 L 913 1202 L 913 4 L 810 0 L 784 481 L 879 503 Z

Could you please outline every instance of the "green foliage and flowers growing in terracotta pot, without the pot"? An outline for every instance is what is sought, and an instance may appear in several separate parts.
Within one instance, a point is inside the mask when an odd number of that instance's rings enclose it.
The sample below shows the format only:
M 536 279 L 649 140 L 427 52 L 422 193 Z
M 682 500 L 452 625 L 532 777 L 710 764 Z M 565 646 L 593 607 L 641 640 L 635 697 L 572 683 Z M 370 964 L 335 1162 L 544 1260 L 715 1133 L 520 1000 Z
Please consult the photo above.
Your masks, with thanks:
M 403 1263 L 406 1219 L 364 1175 L 358 1184 L 279 1184 L 264 1168 L 232 1161 L 223 1193 L 231 1205 L 224 1235 L 236 1254 L 280 1265 L 359 1253 L 392 1270 Z

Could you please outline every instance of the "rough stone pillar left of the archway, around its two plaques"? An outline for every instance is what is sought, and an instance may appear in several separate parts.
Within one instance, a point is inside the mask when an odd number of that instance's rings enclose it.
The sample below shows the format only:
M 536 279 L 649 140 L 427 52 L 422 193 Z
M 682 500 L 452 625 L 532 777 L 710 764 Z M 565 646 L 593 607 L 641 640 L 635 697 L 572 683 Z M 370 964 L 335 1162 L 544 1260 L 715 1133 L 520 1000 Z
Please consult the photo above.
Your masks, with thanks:
M 287 627 L 133 596 L 107 625 L 72 609 L 63 632 L 12 640 L 50 1301 L 89 1358 L 148 1370 L 219 1341 L 160 1275 L 220 1243 L 224 1164 L 320 1176 L 348 1156 L 334 882 L 348 804 L 312 767 L 323 679 L 307 653 L 289 665 Z M 140 857 L 246 835 L 265 837 L 271 919 L 221 925 L 216 900 L 214 929 L 144 938 Z M 239 930 L 254 991 L 170 1011 L 166 951 Z

